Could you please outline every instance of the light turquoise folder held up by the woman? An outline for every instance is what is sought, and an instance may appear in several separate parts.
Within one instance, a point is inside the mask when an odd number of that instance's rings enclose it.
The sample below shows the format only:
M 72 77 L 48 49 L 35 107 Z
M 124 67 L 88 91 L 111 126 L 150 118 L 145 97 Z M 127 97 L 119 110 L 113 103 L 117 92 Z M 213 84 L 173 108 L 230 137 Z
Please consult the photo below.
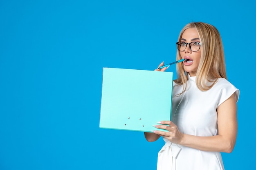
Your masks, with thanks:
M 151 132 L 171 120 L 173 73 L 103 68 L 100 128 Z

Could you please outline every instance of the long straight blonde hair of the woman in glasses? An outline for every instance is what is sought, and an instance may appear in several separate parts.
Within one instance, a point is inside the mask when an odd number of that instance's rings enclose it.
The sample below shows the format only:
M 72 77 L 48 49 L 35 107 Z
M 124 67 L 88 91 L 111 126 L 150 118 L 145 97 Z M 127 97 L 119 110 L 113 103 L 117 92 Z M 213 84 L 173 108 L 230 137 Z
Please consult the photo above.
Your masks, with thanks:
M 201 91 L 207 91 L 217 82 L 218 78 L 227 79 L 222 40 L 219 31 L 211 24 L 191 22 L 181 30 L 178 42 L 181 41 L 184 31 L 189 28 L 195 28 L 198 31 L 201 42 L 201 59 L 196 73 L 196 85 Z M 180 59 L 182 57 L 180 51 L 177 50 L 177 60 Z M 178 63 L 177 79 L 174 82 L 184 85 L 182 93 L 186 91 L 188 76 L 189 73 L 183 68 L 183 62 Z

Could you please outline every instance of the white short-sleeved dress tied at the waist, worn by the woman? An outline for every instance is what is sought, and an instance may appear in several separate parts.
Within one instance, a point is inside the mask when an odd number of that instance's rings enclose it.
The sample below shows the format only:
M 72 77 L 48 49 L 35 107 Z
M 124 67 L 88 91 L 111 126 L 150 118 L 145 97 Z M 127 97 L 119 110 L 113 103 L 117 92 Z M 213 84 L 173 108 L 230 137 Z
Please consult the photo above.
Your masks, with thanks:
M 187 81 L 186 92 L 181 96 L 182 86 L 173 83 L 171 120 L 185 134 L 196 136 L 218 135 L 216 109 L 233 93 L 238 101 L 239 90 L 227 79 L 219 78 L 208 91 L 200 91 L 195 77 Z M 158 153 L 157 170 L 224 170 L 220 152 L 206 152 L 173 144 L 166 138 Z

